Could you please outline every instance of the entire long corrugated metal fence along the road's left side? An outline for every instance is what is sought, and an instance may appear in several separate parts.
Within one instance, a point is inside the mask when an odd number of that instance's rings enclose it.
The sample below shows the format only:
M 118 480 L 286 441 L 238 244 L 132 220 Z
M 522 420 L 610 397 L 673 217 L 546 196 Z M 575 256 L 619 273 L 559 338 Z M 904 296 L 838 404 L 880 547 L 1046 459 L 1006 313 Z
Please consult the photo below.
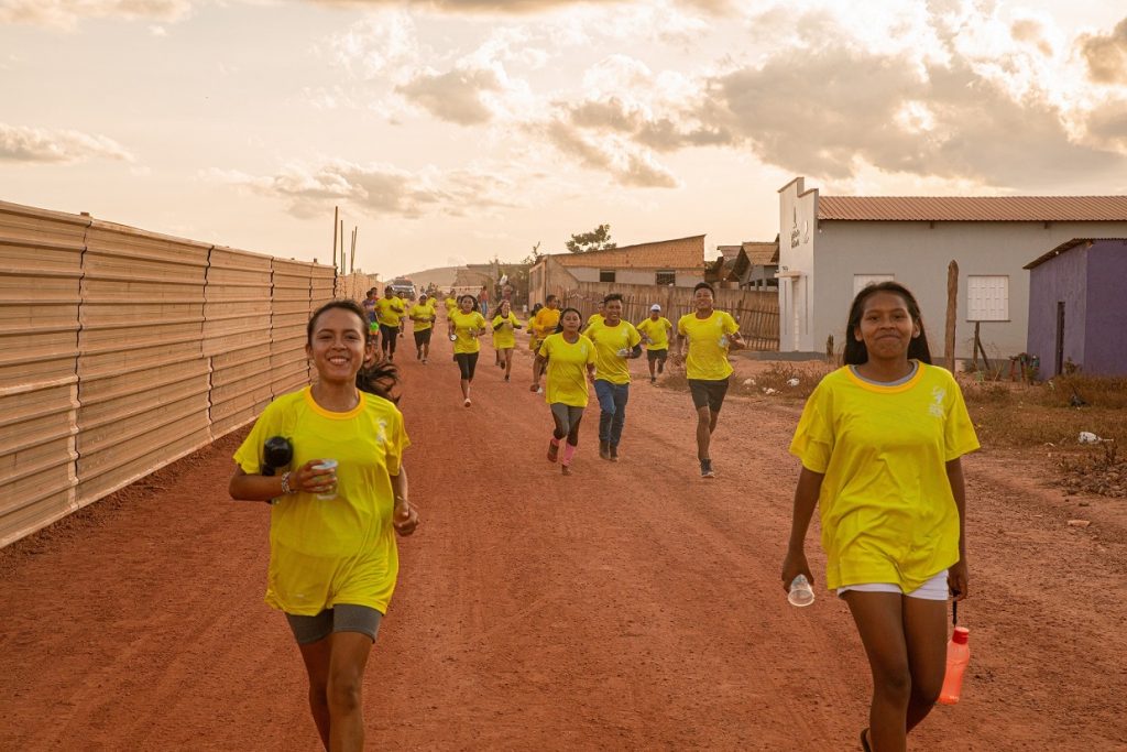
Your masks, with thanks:
M 0 547 L 310 380 L 335 269 L 0 202 Z

